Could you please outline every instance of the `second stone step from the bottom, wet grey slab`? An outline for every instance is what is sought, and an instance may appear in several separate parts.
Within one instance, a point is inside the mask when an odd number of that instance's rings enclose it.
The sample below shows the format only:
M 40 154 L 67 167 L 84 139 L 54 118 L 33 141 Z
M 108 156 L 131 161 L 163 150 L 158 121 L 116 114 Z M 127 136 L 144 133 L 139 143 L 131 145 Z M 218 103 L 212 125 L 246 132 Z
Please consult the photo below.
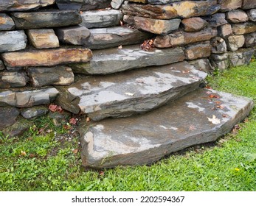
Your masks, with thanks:
M 198 88 L 207 77 L 187 62 L 83 77 L 58 87 L 57 104 L 72 113 L 80 110 L 94 121 L 145 113 Z

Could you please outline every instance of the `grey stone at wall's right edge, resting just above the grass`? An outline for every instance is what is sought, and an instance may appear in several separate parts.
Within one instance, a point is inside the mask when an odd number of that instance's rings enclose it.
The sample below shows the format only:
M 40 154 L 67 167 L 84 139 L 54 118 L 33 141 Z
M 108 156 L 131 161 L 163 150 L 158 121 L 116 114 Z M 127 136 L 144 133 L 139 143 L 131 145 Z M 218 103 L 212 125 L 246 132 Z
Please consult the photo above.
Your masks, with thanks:
M 252 60 L 252 55 L 255 53 L 254 49 L 239 49 L 235 52 L 229 53 L 229 61 L 232 67 L 238 65 L 248 65 Z

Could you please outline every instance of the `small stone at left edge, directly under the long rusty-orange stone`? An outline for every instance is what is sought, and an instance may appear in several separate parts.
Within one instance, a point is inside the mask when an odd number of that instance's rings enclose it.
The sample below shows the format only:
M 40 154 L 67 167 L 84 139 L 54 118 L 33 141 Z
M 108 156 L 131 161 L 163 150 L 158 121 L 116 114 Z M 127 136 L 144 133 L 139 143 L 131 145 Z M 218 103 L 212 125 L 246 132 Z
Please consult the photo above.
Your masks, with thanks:
M 0 88 L 18 88 L 27 85 L 27 75 L 24 72 L 0 72 Z

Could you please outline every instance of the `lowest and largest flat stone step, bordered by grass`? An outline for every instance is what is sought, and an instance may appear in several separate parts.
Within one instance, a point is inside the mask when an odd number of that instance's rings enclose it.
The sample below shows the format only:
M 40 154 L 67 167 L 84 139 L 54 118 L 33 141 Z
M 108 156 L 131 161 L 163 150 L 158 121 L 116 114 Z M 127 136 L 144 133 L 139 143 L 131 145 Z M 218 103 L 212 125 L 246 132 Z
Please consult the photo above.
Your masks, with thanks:
M 216 141 L 252 107 L 252 99 L 200 89 L 151 113 L 84 123 L 80 126 L 83 166 L 154 163 L 172 152 Z

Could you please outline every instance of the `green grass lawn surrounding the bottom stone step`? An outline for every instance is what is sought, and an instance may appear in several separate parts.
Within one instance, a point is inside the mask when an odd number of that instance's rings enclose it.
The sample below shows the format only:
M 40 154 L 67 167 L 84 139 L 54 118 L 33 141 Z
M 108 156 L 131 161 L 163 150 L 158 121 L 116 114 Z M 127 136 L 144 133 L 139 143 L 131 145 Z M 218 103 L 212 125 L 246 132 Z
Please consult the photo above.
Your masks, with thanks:
M 256 62 L 208 78 L 216 90 L 256 101 Z M 152 166 L 81 167 L 78 138 L 46 117 L 22 138 L 0 134 L 0 191 L 255 191 L 256 110 L 216 143 Z

